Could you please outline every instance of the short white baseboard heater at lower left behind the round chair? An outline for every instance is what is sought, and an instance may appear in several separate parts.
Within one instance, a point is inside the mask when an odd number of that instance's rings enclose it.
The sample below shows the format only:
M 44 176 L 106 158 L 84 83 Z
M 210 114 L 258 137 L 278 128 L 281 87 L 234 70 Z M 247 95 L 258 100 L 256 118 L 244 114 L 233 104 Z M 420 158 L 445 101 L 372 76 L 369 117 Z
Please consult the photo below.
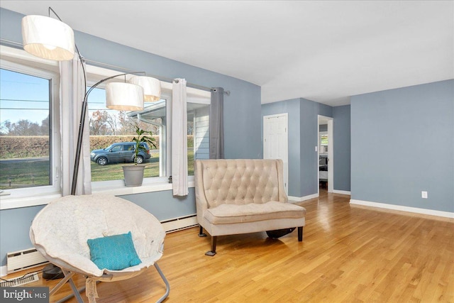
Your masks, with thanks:
M 43 265 L 45 263 L 48 263 L 48 260 L 46 260 L 35 248 L 18 250 L 6 254 L 6 267 L 8 268 L 8 273 L 34 268 L 35 266 Z

